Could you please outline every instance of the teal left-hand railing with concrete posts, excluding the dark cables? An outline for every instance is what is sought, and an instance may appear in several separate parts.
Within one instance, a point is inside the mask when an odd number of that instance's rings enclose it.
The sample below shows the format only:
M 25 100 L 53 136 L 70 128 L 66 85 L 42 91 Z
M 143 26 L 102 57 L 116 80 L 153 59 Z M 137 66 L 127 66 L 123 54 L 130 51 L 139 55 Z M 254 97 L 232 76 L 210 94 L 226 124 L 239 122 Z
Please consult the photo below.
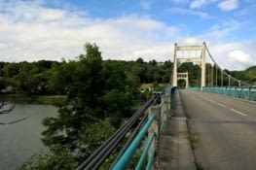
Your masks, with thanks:
M 147 113 L 149 119 L 141 128 L 140 132 L 132 141 L 126 152 L 117 161 L 113 167 L 113 170 L 125 169 L 132 154 L 135 153 L 135 151 L 139 148 L 142 141 L 146 142 L 134 169 L 142 169 L 146 160 L 146 169 L 152 169 L 152 166 L 158 166 L 158 162 L 156 161 L 158 160 L 158 158 L 156 158 L 156 153 L 159 153 L 159 151 L 157 147 L 159 146 L 160 135 L 165 128 L 167 117 L 168 115 L 170 116 L 170 110 L 174 107 L 173 103 L 175 102 L 175 89 L 175 87 L 167 86 L 165 91 L 161 93 L 161 103 L 149 108 Z

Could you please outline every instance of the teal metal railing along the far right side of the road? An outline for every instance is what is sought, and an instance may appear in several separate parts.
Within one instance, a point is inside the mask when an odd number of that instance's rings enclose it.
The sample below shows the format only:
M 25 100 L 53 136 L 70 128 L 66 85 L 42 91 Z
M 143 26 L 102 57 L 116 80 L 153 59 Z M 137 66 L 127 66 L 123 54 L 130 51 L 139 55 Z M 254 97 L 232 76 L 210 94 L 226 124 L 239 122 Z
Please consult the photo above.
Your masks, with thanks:
M 191 90 L 201 91 L 201 87 L 190 87 Z M 202 91 L 217 93 L 226 96 L 256 101 L 256 87 L 202 87 Z

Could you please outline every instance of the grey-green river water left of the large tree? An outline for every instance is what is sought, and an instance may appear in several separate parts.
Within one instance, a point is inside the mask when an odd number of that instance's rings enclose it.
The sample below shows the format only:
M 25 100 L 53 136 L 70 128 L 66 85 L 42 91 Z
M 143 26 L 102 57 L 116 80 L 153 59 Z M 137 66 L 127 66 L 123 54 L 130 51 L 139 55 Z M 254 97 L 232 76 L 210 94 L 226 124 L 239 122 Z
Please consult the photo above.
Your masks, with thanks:
M 52 105 L 17 104 L 15 110 L 0 115 L 0 122 L 23 119 L 16 123 L 0 124 L 0 170 L 15 170 L 30 155 L 45 151 L 41 132 L 42 119 L 54 117 L 57 108 Z

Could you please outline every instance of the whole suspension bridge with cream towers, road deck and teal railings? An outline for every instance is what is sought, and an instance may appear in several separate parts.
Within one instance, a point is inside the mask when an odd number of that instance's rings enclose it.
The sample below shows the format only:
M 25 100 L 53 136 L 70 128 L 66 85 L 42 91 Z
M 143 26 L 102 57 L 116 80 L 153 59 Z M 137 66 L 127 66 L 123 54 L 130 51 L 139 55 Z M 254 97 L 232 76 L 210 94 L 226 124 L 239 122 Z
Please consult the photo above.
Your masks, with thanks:
M 199 86 L 179 72 L 185 62 L 200 66 Z M 174 45 L 170 82 L 77 169 L 255 169 L 256 88 L 225 72 L 205 43 Z

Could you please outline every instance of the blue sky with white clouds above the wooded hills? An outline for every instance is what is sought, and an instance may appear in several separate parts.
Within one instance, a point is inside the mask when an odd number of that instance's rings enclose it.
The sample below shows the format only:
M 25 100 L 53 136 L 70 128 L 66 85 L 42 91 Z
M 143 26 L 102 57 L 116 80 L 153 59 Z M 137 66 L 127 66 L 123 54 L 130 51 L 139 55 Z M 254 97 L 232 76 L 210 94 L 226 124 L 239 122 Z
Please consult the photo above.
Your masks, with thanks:
M 256 65 L 255 0 L 0 0 L 0 61 L 75 59 L 95 44 L 103 59 L 173 60 L 206 43 L 223 69 Z

